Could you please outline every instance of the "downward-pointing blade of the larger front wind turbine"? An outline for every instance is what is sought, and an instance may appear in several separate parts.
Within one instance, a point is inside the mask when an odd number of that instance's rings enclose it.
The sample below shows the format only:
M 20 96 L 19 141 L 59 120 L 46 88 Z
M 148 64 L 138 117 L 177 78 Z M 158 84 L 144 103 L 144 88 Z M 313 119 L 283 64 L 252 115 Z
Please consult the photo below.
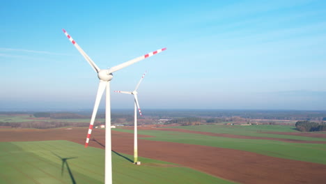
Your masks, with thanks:
M 87 138 L 86 138 L 85 148 L 87 148 L 89 139 L 91 138 L 91 133 L 92 133 L 92 130 L 93 130 L 93 124 L 94 124 L 94 121 L 95 121 L 95 116 L 96 116 L 96 113 L 98 112 L 98 106 L 100 105 L 100 101 L 101 101 L 101 98 L 102 98 L 102 95 L 104 93 L 104 90 L 105 90 L 106 86 L 107 86 L 107 82 L 100 81 L 100 85 L 98 86 L 98 94 L 96 95 L 96 99 L 95 99 L 95 105 L 94 105 L 94 109 L 93 109 L 91 123 L 90 123 L 89 128 L 88 128 L 88 134 L 87 134 Z

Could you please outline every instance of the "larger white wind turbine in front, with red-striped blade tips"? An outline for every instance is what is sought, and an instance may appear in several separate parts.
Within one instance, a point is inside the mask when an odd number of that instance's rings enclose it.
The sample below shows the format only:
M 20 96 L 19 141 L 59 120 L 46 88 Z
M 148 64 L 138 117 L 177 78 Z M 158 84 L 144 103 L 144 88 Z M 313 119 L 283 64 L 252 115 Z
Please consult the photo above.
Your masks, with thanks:
M 95 116 L 96 113 L 98 112 L 98 106 L 100 105 L 100 100 L 102 98 L 102 95 L 104 93 L 104 90 L 106 89 L 107 92 L 106 94 L 106 100 L 105 100 L 105 175 L 104 175 L 104 183 L 105 184 L 109 184 L 112 183 L 112 164 L 111 164 L 111 105 L 110 105 L 110 81 L 113 78 L 112 73 L 116 72 L 118 70 L 121 70 L 127 66 L 132 65 L 133 63 L 137 63 L 138 61 L 141 61 L 143 59 L 146 59 L 150 56 L 153 56 L 154 54 L 160 53 L 162 51 L 164 51 L 166 48 L 163 49 L 158 49 L 154 52 L 150 52 L 148 54 L 145 54 L 143 56 L 139 56 L 135 59 L 132 59 L 130 61 L 127 61 L 125 63 L 121 63 L 118 66 L 114 66 L 112 68 L 109 69 L 104 69 L 101 70 L 100 68 L 98 68 L 98 66 L 96 66 L 96 64 L 94 63 L 94 61 L 84 52 L 83 49 L 81 49 L 81 47 L 79 47 L 79 45 L 75 42 L 75 40 L 73 40 L 71 38 L 71 36 L 65 31 L 65 29 L 63 29 L 63 32 L 65 33 L 65 36 L 67 36 L 70 40 L 70 42 L 75 45 L 76 49 L 80 52 L 80 54 L 82 56 L 84 56 L 84 58 L 86 59 L 86 61 L 88 61 L 88 63 L 91 65 L 91 67 L 93 68 L 93 70 L 95 70 L 95 72 L 98 73 L 98 78 L 100 79 L 100 84 L 98 86 L 98 93 L 96 95 L 95 98 L 95 105 L 94 105 L 94 109 L 93 109 L 93 114 L 91 117 L 91 123 L 89 125 L 89 129 L 88 129 L 88 135 L 86 138 L 86 144 L 85 147 L 88 146 L 88 141 L 89 138 L 91 137 L 91 132 L 93 130 L 93 124 L 95 121 Z

